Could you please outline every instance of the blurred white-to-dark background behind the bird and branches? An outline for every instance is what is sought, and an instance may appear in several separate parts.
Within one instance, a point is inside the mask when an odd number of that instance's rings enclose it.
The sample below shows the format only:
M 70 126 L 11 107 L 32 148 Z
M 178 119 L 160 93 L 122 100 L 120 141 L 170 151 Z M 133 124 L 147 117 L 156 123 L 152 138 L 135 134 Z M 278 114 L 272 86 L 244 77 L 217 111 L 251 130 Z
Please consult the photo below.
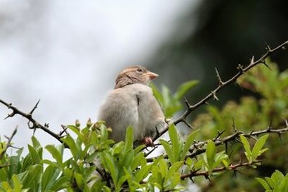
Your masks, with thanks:
M 36 1 L 0 0 L 0 98 L 30 111 L 60 132 L 60 124 L 97 120 L 114 77 L 127 65 L 145 65 L 159 74 L 157 86 L 175 91 L 200 81 L 188 96 L 195 103 L 223 79 L 288 39 L 287 1 Z M 288 54 L 273 54 L 280 70 Z M 251 94 L 231 85 L 218 95 L 228 100 Z M 198 110 L 197 112 L 201 112 Z M 0 117 L 9 110 L 0 105 Z M 193 119 L 197 113 L 191 115 Z M 18 125 L 15 146 L 26 146 L 26 120 L 0 120 L 0 135 Z M 58 144 L 35 133 L 42 145 Z

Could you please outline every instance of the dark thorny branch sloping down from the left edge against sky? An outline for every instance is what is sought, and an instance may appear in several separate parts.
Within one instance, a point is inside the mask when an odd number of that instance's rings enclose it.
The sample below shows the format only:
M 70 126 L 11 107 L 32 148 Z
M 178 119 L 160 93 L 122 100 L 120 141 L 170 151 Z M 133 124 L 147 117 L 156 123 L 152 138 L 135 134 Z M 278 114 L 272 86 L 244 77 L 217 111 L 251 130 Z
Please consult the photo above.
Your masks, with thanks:
M 39 100 L 40 101 L 40 100 Z M 39 122 L 37 122 L 37 120 L 34 120 L 34 118 L 32 117 L 32 113 L 34 113 L 34 110 L 37 108 L 39 101 L 36 103 L 36 105 L 34 105 L 34 108 L 32 108 L 32 110 L 30 111 L 30 113 L 24 113 L 21 110 L 18 110 L 18 108 L 16 108 L 14 105 L 12 105 L 12 103 L 6 103 L 5 101 L 0 99 L 0 103 L 6 105 L 6 107 L 8 109 L 12 110 L 12 113 L 9 113 L 7 115 L 7 117 L 5 117 L 4 120 L 6 120 L 8 117 L 13 117 L 14 115 L 21 115 L 22 117 L 25 117 L 28 120 L 28 127 L 30 129 L 42 129 L 44 132 L 50 134 L 51 136 L 53 136 L 55 139 L 57 139 L 58 141 L 60 141 L 60 143 L 63 143 L 63 141 L 61 141 L 61 136 L 59 136 L 58 134 L 55 134 L 54 132 L 52 132 L 50 129 L 48 129 L 49 124 L 45 123 L 44 125 L 40 124 Z

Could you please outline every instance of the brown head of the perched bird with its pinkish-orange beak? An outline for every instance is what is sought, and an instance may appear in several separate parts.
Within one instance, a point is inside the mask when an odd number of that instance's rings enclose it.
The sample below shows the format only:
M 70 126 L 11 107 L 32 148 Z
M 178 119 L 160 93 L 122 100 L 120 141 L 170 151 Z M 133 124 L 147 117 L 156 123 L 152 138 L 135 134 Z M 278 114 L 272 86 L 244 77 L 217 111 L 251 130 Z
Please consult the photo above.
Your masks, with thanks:
M 148 84 L 151 79 L 155 79 L 158 75 L 154 72 L 150 72 L 147 68 L 140 65 L 131 66 L 119 72 L 115 80 L 114 89 L 124 87 L 128 84 Z

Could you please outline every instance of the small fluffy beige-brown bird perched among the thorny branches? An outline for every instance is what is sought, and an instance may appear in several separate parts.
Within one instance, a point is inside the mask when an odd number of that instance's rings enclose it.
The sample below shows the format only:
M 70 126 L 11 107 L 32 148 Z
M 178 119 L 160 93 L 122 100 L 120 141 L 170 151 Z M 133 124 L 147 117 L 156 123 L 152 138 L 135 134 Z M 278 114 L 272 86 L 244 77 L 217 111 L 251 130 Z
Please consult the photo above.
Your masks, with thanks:
M 132 127 L 134 141 L 153 146 L 152 138 L 166 126 L 162 108 L 148 86 L 156 77 L 140 65 L 119 72 L 98 115 L 98 120 L 112 129 L 110 139 L 124 141 L 127 127 Z

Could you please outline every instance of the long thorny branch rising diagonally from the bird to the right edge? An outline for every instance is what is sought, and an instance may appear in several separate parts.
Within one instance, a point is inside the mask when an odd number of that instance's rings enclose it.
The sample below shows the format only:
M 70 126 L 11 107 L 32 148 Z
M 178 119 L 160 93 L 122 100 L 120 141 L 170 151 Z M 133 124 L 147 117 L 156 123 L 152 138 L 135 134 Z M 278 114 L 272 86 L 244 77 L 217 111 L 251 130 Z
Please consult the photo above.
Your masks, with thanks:
M 254 68 L 256 65 L 262 63 L 263 65 L 266 65 L 268 67 L 268 65 L 265 63 L 266 58 L 268 58 L 268 56 L 270 56 L 272 53 L 279 51 L 280 49 L 284 50 L 284 47 L 286 45 L 288 45 L 288 41 L 285 41 L 284 43 L 275 47 L 275 49 L 270 49 L 269 46 L 266 46 L 267 51 L 266 51 L 266 53 L 263 54 L 263 56 L 261 56 L 261 58 L 258 58 L 258 60 L 254 61 L 254 56 L 253 56 L 250 60 L 250 63 L 246 67 L 244 67 L 243 65 L 238 65 L 238 67 L 237 67 L 238 72 L 233 77 L 231 77 L 230 79 L 228 79 L 225 82 L 223 82 L 223 80 L 221 79 L 218 70 L 215 69 L 216 70 L 216 77 L 218 79 L 218 87 L 216 87 L 214 90 L 212 90 L 210 92 L 210 94 L 208 94 L 207 96 L 202 98 L 202 100 L 198 101 L 194 105 L 190 105 L 188 103 L 188 101 L 186 100 L 185 103 L 186 103 L 187 108 L 186 108 L 185 112 L 180 117 L 178 117 L 178 119 L 176 119 L 173 123 L 175 125 L 177 125 L 180 122 L 184 122 L 186 124 L 186 122 L 187 122 L 186 117 L 188 117 L 188 115 L 190 115 L 190 113 L 192 113 L 192 111 L 199 108 L 199 106 L 206 104 L 207 101 L 209 101 L 211 98 L 214 98 L 214 100 L 218 100 L 218 97 L 216 96 L 218 91 L 220 91 L 224 87 L 228 86 L 229 84 L 236 82 L 239 77 L 241 77 L 245 72 L 247 72 L 251 68 Z M 159 134 L 157 134 L 155 136 L 155 138 L 153 138 L 152 140 L 155 141 L 156 139 L 158 139 L 160 136 L 162 136 L 162 134 L 166 133 L 167 131 L 168 131 L 168 126 L 166 126 L 162 130 L 162 132 L 159 132 Z

